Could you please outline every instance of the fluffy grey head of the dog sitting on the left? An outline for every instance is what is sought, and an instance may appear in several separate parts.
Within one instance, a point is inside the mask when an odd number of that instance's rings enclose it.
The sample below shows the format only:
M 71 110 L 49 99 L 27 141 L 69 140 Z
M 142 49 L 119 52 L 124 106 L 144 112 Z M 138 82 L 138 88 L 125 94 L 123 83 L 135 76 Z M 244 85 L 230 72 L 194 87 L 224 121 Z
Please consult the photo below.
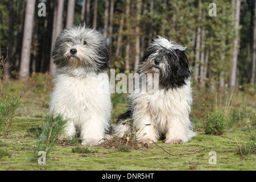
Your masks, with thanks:
M 63 30 L 52 51 L 57 67 L 85 67 L 92 72 L 108 69 L 110 55 L 100 32 L 82 26 Z

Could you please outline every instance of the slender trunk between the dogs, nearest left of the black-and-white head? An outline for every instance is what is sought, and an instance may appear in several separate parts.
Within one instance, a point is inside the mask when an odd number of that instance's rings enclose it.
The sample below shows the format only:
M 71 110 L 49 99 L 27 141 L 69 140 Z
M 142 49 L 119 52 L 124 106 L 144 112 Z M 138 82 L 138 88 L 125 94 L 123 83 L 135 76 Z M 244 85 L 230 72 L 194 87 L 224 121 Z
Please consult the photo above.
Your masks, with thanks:
M 138 69 L 139 59 L 141 56 L 141 47 L 140 47 L 141 42 L 140 42 L 140 35 L 139 35 L 139 25 L 141 22 L 141 0 L 137 1 L 136 9 L 137 9 L 137 17 L 136 17 L 136 27 L 135 27 L 136 43 L 135 43 L 134 72 L 136 72 Z

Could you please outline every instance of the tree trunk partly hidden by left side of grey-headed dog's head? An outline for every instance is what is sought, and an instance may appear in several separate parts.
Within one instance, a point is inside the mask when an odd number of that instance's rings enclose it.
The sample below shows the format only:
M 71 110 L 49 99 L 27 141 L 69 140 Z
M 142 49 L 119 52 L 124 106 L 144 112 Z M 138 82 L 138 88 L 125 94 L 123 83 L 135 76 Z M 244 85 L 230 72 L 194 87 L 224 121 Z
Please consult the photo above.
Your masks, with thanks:
M 64 8 L 64 1 L 63 0 L 58 0 L 58 6 L 57 6 L 57 12 L 56 13 L 56 22 L 54 22 L 53 20 L 53 32 L 52 32 L 52 45 L 55 42 L 55 39 L 57 38 L 57 36 L 59 36 L 62 28 L 63 28 L 63 8 Z M 55 14 L 54 14 L 55 16 Z M 53 46 L 52 46 L 53 47 Z M 49 73 L 51 76 L 55 76 L 56 74 L 56 64 L 53 64 L 53 61 L 51 59 L 51 63 L 50 63 L 50 68 L 49 68 Z

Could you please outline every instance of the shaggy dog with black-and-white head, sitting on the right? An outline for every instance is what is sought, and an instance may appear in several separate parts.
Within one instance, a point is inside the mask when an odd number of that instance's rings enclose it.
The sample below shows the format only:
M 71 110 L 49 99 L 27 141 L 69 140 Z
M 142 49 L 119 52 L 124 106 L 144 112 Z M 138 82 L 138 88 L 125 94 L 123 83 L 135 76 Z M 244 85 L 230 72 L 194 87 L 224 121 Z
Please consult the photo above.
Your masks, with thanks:
M 168 38 L 158 36 L 147 48 L 138 67 L 139 74 L 159 74 L 158 94 L 133 92 L 127 113 L 118 117 L 115 134 L 126 130 L 137 131 L 137 139 L 144 143 L 156 142 L 165 137 L 168 144 L 186 143 L 196 135 L 189 120 L 191 112 L 191 68 L 185 47 Z M 152 79 L 147 79 L 152 81 Z M 156 85 L 156 82 L 154 82 Z M 152 94 L 158 96 L 152 99 Z M 131 125 L 128 125 L 127 118 Z M 127 123 L 127 124 L 125 124 Z

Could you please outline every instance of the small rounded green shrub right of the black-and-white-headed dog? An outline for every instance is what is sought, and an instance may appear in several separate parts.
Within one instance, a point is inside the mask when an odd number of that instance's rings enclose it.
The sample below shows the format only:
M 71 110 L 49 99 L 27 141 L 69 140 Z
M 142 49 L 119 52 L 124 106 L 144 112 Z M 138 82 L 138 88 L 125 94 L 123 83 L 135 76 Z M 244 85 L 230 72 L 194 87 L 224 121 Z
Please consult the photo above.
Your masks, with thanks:
M 226 115 L 223 111 L 208 113 L 204 123 L 204 132 L 208 135 L 222 135 L 226 130 Z

